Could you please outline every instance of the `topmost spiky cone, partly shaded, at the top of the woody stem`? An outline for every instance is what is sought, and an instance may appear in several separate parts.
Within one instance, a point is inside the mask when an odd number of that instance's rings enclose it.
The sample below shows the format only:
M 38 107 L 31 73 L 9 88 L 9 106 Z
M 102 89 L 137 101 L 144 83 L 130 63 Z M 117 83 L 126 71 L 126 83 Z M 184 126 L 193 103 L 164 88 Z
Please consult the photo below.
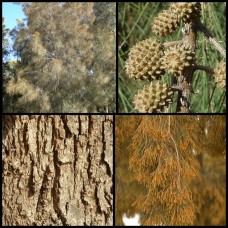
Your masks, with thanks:
M 169 10 L 177 15 L 179 21 L 183 21 L 184 23 L 196 22 L 201 16 L 200 2 L 172 3 Z

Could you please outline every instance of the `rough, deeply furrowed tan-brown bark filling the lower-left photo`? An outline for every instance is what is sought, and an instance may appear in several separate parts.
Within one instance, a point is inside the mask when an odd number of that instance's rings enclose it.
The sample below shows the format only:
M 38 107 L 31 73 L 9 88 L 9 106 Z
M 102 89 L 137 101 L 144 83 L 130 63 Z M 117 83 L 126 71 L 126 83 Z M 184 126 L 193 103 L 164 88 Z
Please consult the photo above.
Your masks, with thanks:
M 112 225 L 112 144 L 112 116 L 3 116 L 3 225 Z

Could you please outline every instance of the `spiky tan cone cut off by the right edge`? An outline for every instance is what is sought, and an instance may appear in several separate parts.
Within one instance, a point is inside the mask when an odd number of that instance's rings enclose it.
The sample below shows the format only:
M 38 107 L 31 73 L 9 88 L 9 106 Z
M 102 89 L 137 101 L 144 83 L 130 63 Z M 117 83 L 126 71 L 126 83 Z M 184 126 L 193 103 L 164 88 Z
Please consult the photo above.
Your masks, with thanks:
M 218 87 L 226 90 L 226 63 L 220 62 L 214 69 L 215 82 Z

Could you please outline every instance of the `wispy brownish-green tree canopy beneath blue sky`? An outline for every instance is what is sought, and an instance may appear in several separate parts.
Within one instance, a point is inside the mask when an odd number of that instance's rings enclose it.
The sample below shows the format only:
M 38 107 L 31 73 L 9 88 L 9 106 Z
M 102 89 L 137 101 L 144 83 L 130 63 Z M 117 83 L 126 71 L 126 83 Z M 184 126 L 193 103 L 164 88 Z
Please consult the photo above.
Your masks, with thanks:
M 114 112 L 115 3 L 20 3 L 7 84 L 18 112 Z

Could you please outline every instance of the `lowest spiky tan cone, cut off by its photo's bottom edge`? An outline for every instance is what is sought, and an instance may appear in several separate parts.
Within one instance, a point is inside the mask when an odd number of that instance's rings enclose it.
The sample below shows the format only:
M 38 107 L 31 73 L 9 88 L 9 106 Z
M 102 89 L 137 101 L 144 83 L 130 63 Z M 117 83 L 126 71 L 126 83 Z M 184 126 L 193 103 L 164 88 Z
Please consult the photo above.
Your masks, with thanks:
M 160 81 L 145 85 L 134 96 L 135 109 L 140 113 L 160 113 L 172 103 L 173 91 Z

